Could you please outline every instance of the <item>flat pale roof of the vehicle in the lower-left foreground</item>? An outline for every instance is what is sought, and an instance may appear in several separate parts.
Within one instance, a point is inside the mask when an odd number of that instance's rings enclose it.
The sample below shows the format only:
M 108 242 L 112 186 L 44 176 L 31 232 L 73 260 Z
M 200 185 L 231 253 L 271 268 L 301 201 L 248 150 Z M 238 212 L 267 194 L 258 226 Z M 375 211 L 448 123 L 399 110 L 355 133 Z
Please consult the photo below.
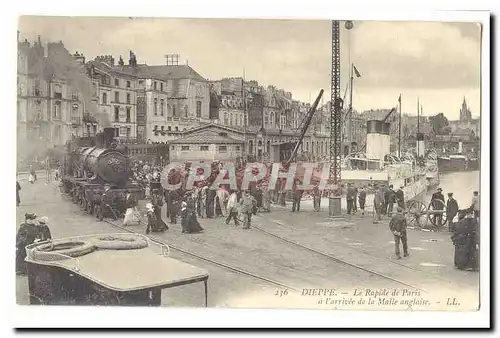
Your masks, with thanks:
M 123 234 L 121 234 L 123 235 Z M 118 237 L 120 234 L 113 234 Z M 54 240 L 54 243 L 89 241 L 93 243 L 102 235 L 80 236 Z M 27 260 L 40 265 L 58 266 L 77 273 L 114 291 L 166 288 L 174 284 L 208 277 L 208 272 L 170 257 L 164 257 L 149 247 L 142 249 L 99 249 L 76 259 L 39 260 L 33 258 L 37 244 L 27 247 Z M 52 257 L 56 255 L 52 254 Z M 78 269 L 75 270 L 75 267 Z M 124 268 L 126 267 L 126 268 Z

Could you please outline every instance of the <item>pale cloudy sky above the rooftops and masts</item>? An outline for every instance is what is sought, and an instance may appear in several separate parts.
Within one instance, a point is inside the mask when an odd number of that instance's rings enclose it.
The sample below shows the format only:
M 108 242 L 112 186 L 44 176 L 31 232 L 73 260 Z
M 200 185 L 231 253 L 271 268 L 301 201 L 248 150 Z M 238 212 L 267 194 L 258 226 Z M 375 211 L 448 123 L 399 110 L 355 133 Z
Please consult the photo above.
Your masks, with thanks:
M 324 20 L 147 19 L 34 17 L 19 20 L 20 39 L 62 40 L 87 60 L 111 54 L 128 62 L 160 65 L 165 54 L 180 54 L 209 80 L 241 77 L 275 85 L 295 99 L 330 98 L 331 22 Z M 341 91 L 349 61 L 358 111 L 386 109 L 402 96 L 403 113 L 444 113 L 459 118 L 465 96 L 480 116 L 480 27 L 475 23 L 355 21 L 341 26 Z M 347 96 L 348 100 L 348 96 Z M 346 102 L 347 102 L 346 100 Z

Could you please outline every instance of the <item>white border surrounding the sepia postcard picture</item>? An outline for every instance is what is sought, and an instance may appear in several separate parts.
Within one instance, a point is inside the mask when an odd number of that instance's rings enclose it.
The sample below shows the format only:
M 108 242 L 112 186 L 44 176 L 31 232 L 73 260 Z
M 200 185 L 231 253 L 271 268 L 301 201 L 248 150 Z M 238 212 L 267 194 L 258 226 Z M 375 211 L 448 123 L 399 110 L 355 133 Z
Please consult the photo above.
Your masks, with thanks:
M 396 6 L 392 2 L 377 1 L 120 1 L 106 2 L 87 0 L 84 2 L 33 1 L 10 4 L 3 9 L 10 14 L 3 18 L 2 31 L 8 36 L 4 41 L 1 58 L 5 76 L 2 78 L 2 100 L 4 124 L 2 144 L 4 154 L 12 159 L 5 163 L 11 166 L 1 168 L 6 191 L 2 194 L 2 205 L 12 206 L 13 195 L 9 187 L 15 176 L 15 110 L 13 98 L 16 70 L 16 27 L 19 14 L 45 15 L 92 15 L 92 16 L 147 16 L 147 17 L 254 17 L 254 18 L 318 18 L 351 20 L 425 20 L 425 21 L 477 21 L 482 22 L 482 144 L 481 152 L 490 151 L 490 25 L 489 13 L 465 12 L 467 9 L 481 9 L 480 1 L 449 1 L 444 5 L 437 1 L 402 2 Z M 423 10 L 422 8 L 426 8 Z M 475 7 L 475 8 L 474 8 Z M 482 9 L 488 6 L 482 7 Z M 363 8 L 363 11 L 359 9 Z M 432 11 L 438 9 L 455 11 Z M 456 11 L 456 10 L 464 11 Z M 12 13 L 11 13 L 12 12 Z M 12 121 L 11 121 L 12 119 Z M 12 129 L 14 128 L 14 129 Z M 481 212 L 488 215 L 490 210 L 490 183 L 488 156 L 482 156 L 481 163 Z M 13 188 L 12 188 L 13 191 Z M 12 192 L 13 194 L 13 192 Z M 476 312 L 357 312 L 357 311 L 302 311 L 302 310 L 222 310 L 222 309 L 170 309 L 170 308 L 104 308 L 104 307 L 36 307 L 15 305 L 15 284 L 13 278 L 14 255 L 12 239 L 15 237 L 15 212 L 8 210 L 3 224 L 7 236 L 3 246 L 2 259 L 6 273 L 2 282 L 4 297 L 1 306 L 3 318 L 11 319 L 11 327 L 485 327 L 489 325 L 490 311 L 490 271 L 489 271 L 489 231 L 481 231 L 481 309 Z M 483 229 L 489 224 L 483 224 Z M 450 253 L 451 254 L 451 253 Z M 12 273 L 11 273 L 12 271 Z

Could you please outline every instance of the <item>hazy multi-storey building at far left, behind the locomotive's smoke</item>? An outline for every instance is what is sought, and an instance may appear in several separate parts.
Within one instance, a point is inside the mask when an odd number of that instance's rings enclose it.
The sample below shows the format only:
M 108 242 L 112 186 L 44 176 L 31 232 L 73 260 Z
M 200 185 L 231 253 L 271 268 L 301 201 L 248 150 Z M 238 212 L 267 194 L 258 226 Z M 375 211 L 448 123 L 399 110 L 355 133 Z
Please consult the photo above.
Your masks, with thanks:
M 18 44 L 18 154 L 43 156 L 48 148 L 83 134 L 92 84 L 62 42 L 40 38 Z

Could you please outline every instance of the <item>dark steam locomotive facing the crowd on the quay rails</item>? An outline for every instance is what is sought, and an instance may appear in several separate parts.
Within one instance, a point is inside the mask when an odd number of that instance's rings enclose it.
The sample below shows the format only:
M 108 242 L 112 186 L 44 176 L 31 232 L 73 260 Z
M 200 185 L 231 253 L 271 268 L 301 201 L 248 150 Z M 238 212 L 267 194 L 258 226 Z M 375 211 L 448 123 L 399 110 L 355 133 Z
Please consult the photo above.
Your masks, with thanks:
M 95 137 L 67 142 L 61 154 L 61 192 L 69 195 L 87 213 L 93 214 L 109 186 L 112 205 L 109 213 L 118 218 L 126 211 L 125 192 L 141 197 L 143 189 L 131 182 L 131 161 L 125 145 L 115 141 L 115 129 L 105 128 Z

